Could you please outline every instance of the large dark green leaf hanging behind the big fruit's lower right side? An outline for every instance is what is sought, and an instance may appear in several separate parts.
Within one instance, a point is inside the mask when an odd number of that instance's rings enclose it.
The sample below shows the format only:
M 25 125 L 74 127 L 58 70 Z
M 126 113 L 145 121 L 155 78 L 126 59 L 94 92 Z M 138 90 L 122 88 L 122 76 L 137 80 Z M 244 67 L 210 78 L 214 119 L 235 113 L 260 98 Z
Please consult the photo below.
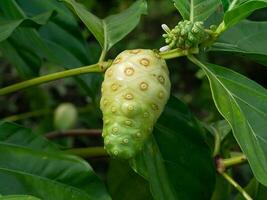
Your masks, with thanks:
M 215 184 L 210 149 L 186 106 L 171 97 L 144 151 L 132 161 L 157 200 L 208 200 Z

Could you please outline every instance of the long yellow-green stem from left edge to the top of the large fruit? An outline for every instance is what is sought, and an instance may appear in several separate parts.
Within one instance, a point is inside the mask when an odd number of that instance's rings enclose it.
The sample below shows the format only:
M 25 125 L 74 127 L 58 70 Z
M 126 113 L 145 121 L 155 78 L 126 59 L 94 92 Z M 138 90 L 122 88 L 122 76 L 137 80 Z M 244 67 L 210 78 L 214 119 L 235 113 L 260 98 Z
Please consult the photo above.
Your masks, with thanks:
M 70 76 L 86 74 L 89 72 L 103 72 L 106 68 L 105 64 L 106 63 L 101 63 L 101 64 L 97 63 L 94 65 L 65 70 L 62 72 L 56 72 L 53 74 L 48 74 L 48 75 L 44 75 L 41 77 L 30 79 L 27 81 L 23 81 L 20 83 L 16 83 L 14 85 L 10 85 L 10 86 L 0 89 L 0 96 L 11 93 L 11 92 L 15 92 L 21 89 L 25 89 L 31 86 L 40 85 L 42 83 L 46 83 L 49 81 L 54 81 L 54 80 L 58 80 L 58 79 L 62 79 L 62 78 L 70 77 Z

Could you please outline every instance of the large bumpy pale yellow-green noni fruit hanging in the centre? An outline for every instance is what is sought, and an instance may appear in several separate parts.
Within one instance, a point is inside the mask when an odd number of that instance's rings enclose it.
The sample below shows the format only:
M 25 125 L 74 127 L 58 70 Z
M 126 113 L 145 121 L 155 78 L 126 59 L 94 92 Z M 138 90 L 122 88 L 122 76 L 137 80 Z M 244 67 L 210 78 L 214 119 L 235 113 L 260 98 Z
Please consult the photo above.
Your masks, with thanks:
M 113 157 L 130 159 L 142 150 L 170 96 L 169 71 L 152 50 L 120 53 L 105 72 L 100 108 L 102 136 Z

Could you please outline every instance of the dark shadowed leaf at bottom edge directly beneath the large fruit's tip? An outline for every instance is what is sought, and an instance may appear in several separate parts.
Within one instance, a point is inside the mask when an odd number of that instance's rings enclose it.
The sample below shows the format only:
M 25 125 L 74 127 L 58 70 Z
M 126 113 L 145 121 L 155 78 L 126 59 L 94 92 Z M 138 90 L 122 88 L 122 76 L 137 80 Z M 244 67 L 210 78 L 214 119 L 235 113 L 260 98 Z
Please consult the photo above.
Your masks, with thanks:
M 136 174 L 128 162 L 111 160 L 107 184 L 112 199 L 153 200 L 148 182 Z

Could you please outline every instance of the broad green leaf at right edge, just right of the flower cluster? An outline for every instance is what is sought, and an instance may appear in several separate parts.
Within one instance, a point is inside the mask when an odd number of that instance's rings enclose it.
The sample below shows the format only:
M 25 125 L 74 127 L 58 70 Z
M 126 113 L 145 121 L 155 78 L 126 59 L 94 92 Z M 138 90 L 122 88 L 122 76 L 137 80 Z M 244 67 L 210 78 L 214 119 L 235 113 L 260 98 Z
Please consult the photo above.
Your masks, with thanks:
M 267 22 L 242 21 L 223 33 L 211 51 L 245 55 L 267 65 Z

